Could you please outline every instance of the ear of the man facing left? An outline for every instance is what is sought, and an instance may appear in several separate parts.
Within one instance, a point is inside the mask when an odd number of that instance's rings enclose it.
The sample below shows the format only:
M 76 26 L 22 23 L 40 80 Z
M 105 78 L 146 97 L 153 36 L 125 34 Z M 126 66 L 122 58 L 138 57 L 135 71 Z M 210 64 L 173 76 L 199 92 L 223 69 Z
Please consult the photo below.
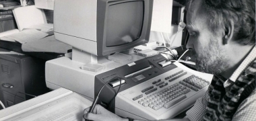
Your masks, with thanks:
M 230 19 L 228 24 L 225 25 L 225 34 L 223 37 L 223 44 L 228 44 L 234 34 L 234 22 Z

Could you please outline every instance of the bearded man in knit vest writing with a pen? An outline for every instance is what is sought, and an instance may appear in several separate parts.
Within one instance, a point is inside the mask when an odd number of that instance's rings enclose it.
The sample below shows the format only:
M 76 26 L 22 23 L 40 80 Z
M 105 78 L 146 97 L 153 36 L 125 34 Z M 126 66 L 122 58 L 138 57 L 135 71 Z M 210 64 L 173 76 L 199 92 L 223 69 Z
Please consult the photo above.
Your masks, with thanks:
M 187 30 L 197 71 L 214 78 L 185 118 L 171 120 L 255 120 L 255 0 L 191 0 Z M 101 106 L 88 110 L 89 120 L 133 120 Z

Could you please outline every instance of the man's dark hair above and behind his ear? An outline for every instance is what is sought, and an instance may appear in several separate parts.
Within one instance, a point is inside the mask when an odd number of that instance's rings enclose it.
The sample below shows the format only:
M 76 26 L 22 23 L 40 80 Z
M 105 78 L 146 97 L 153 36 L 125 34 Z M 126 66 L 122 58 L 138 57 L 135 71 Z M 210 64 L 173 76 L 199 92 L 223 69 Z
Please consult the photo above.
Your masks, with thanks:
M 255 0 L 201 0 L 207 23 L 216 33 L 232 19 L 233 40 L 239 44 L 255 44 Z M 187 6 L 195 0 L 189 0 Z

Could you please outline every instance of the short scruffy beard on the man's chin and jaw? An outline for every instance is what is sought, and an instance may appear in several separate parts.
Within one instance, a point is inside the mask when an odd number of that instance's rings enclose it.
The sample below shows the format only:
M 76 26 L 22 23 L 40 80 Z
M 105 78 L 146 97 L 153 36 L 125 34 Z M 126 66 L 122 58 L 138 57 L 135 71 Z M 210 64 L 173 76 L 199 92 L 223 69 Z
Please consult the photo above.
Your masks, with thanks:
M 216 75 L 228 69 L 228 58 L 226 52 L 218 46 L 217 40 L 212 37 L 210 41 L 207 47 L 195 54 L 195 66 L 197 71 Z

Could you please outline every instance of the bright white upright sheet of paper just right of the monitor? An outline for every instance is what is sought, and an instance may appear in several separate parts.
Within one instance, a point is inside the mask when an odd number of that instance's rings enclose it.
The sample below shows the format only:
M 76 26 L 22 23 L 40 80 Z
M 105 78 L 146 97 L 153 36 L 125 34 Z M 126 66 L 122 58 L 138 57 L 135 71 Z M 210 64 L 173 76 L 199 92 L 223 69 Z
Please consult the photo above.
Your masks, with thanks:
M 151 30 L 170 33 L 172 22 L 172 1 L 155 0 L 152 13 Z

